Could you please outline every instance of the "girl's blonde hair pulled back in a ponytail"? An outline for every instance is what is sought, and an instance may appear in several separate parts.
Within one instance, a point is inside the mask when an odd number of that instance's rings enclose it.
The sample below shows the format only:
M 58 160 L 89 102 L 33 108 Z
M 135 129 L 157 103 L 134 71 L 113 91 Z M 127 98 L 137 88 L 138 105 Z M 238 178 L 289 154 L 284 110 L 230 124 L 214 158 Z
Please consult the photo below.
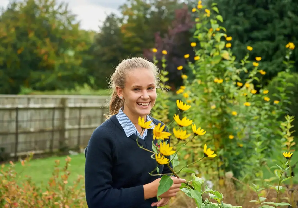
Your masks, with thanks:
M 110 118 L 112 115 L 115 115 L 119 112 L 121 107 L 124 107 L 123 99 L 120 99 L 117 95 L 116 87 L 121 87 L 122 89 L 125 87 L 126 75 L 129 71 L 133 69 L 146 68 L 152 69 L 155 77 L 155 85 L 156 88 L 160 87 L 159 80 L 159 68 L 153 64 L 152 62 L 144 59 L 144 58 L 129 58 L 122 60 L 119 65 L 116 67 L 114 73 L 111 75 L 111 89 L 112 94 L 110 97 L 110 115 L 106 115 L 107 118 Z

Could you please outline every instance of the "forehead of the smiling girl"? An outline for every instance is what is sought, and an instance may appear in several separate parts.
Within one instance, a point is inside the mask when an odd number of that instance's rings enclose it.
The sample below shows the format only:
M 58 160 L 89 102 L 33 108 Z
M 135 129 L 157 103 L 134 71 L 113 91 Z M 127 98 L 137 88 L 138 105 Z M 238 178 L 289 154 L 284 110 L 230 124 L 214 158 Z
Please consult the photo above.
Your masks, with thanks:
M 139 68 L 127 73 L 126 86 L 148 86 L 155 83 L 155 76 L 152 69 Z

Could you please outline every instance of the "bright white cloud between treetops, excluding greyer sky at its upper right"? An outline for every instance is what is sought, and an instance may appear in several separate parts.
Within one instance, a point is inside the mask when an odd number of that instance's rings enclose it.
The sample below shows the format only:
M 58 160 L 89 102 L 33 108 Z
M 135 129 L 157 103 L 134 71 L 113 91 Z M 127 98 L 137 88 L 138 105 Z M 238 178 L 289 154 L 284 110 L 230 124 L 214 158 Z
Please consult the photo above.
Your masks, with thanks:
M 7 7 L 10 0 L 0 0 L 0 7 Z M 115 8 L 102 7 L 100 5 L 83 0 L 63 0 L 69 4 L 69 9 L 77 15 L 77 19 L 80 20 L 82 29 L 99 31 L 99 25 L 101 21 L 104 21 L 108 14 L 119 12 Z M 58 0 L 62 2 L 62 0 Z

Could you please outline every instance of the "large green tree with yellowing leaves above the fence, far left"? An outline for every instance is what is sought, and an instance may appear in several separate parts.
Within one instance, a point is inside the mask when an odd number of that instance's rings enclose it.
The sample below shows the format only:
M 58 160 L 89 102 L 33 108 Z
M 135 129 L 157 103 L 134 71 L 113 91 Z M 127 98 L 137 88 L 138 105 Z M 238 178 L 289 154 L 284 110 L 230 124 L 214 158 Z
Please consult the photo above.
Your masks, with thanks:
M 71 89 L 87 82 L 81 66 L 88 32 L 64 3 L 13 1 L 0 16 L 0 93 Z

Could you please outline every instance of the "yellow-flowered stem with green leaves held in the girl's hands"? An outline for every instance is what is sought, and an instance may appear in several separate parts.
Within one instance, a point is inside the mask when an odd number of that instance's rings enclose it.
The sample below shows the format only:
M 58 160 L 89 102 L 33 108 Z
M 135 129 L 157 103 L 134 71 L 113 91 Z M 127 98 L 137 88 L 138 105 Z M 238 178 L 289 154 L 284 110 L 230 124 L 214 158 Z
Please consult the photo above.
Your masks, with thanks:
M 187 111 L 190 109 L 190 105 L 184 104 L 181 100 L 177 100 L 177 108 L 179 110 L 178 114 L 174 114 L 173 121 L 170 122 L 168 125 L 169 129 L 166 129 L 166 125 L 161 125 L 159 123 L 158 125 L 155 125 L 153 129 L 153 141 L 152 141 L 152 150 L 144 148 L 143 146 L 140 146 L 137 137 L 136 142 L 139 146 L 139 148 L 144 149 L 145 151 L 149 151 L 152 153 L 151 158 L 156 160 L 156 168 L 152 170 L 150 175 L 161 175 L 162 178 L 159 182 L 159 188 L 157 192 L 157 196 L 162 195 L 167 190 L 170 189 L 170 187 L 173 184 L 173 180 L 171 179 L 171 175 L 175 175 L 176 177 L 179 177 L 179 173 L 181 171 L 184 171 L 184 169 L 187 168 L 187 172 L 192 173 L 192 180 L 186 181 L 182 186 L 181 190 L 190 198 L 193 198 L 195 200 L 195 203 L 199 208 L 201 207 L 237 207 L 232 206 L 231 204 L 225 204 L 223 202 L 223 195 L 219 193 L 218 191 L 214 191 L 206 185 L 205 189 L 202 189 L 204 179 L 197 177 L 194 173 L 195 171 L 191 171 L 190 167 L 194 165 L 197 162 L 200 162 L 203 159 L 212 159 L 216 157 L 216 154 L 214 151 L 211 150 L 211 148 L 207 148 L 207 144 L 205 143 L 202 151 L 201 151 L 201 157 L 198 157 L 194 162 L 191 162 L 187 165 L 184 165 L 183 167 L 177 169 L 177 165 L 179 165 L 179 159 L 178 159 L 178 152 L 179 150 L 187 145 L 187 143 L 190 143 L 192 140 L 201 137 L 205 135 L 206 131 L 202 129 L 201 127 L 197 128 L 197 125 L 193 123 L 190 118 L 183 117 L 181 118 L 181 113 L 184 111 Z M 152 121 L 145 121 L 144 118 L 139 117 L 139 126 L 142 128 L 142 132 L 145 129 L 149 129 L 152 127 Z M 173 124 L 173 127 L 172 127 Z M 172 133 L 169 131 L 172 130 Z M 141 132 L 141 134 L 142 134 Z M 170 140 L 168 143 L 167 141 Z M 172 140 L 174 140 L 176 143 L 172 145 Z M 176 150 L 175 150 L 175 149 Z M 172 167 L 170 166 L 172 164 Z M 159 165 L 167 165 L 167 167 L 171 170 L 171 173 L 159 173 Z M 153 174 L 153 172 L 156 171 L 157 174 Z M 202 195 L 206 193 L 209 195 L 209 198 L 203 199 Z M 211 202 L 210 200 L 214 199 L 216 203 Z

